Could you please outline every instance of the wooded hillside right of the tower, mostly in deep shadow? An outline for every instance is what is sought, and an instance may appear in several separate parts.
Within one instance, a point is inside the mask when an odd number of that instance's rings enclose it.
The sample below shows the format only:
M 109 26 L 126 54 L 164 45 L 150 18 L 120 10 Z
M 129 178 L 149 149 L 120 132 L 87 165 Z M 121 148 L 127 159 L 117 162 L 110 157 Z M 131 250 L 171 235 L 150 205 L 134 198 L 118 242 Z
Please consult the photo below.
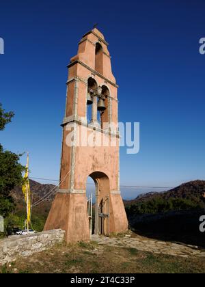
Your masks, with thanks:
M 199 230 L 204 190 L 205 181 L 194 180 L 163 193 L 139 195 L 125 202 L 130 227 L 150 238 L 204 248 L 204 234 Z

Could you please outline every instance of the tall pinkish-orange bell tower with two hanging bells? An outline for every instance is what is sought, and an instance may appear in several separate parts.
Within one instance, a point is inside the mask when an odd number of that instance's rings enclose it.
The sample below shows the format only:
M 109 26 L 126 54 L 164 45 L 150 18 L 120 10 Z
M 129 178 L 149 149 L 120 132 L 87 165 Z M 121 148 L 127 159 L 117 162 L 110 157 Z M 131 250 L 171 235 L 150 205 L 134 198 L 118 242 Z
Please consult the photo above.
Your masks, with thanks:
M 44 226 L 66 230 L 67 242 L 90 240 L 88 176 L 96 184 L 94 233 L 128 229 L 120 195 L 118 85 L 107 46 L 92 29 L 68 64 L 59 190 Z

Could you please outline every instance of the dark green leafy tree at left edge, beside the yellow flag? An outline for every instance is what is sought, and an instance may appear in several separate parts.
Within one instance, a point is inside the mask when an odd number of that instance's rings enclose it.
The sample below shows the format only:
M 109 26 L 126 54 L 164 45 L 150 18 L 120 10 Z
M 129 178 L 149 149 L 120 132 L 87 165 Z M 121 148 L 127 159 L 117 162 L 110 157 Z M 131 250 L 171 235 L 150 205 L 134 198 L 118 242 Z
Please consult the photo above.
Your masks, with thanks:
M 5 112 L 0 103 L 0 131 L 5 125 L 11 122 L 14 113 Z M 7 217 L 15 208 L 14 200 L 10 196 L 10 191 L 16 185 L 23 183 L 23 165 L 18 162 L 21 154 L 14 154 L 8 150 L 3 150 L 0 143 L 0 215 Z

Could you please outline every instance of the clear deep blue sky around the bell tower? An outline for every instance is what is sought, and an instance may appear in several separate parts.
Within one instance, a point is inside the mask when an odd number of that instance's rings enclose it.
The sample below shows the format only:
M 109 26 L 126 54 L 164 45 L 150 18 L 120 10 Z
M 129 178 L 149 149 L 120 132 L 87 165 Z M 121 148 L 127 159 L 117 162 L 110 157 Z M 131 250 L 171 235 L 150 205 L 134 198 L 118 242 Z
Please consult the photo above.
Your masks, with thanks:
M 121 148 L 120 183 L 205 180 L 204 15 L 200 0 L 2 0 L 0 102 L 15 112 L 3 147 L 29 151 L 31 176 L 59 178 L 66 65 L 99 23 L 120 86 L 120 121 L 141 127 L 139 154 Z

